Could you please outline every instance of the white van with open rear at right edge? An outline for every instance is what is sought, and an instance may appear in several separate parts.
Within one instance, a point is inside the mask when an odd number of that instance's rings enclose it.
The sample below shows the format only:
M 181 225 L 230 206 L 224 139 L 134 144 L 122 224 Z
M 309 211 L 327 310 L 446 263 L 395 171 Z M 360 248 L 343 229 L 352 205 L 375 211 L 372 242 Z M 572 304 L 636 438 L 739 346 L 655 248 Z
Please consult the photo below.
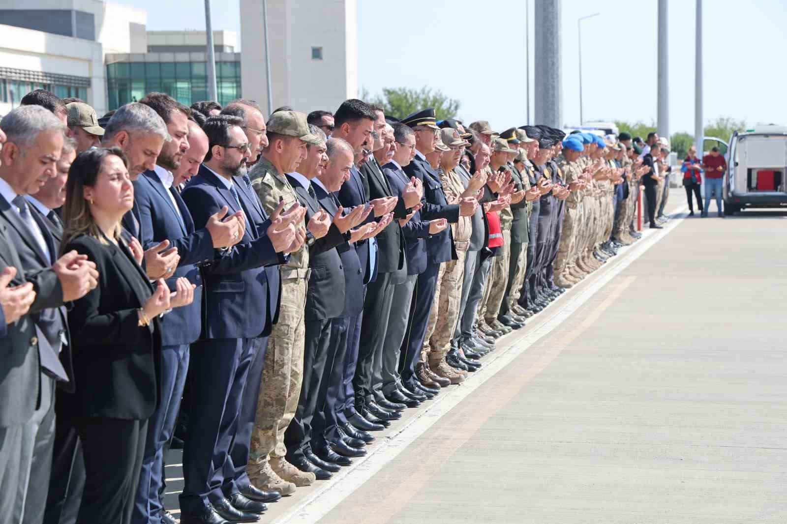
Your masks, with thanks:
M 756 126 L 730 138 L 724 212 L 787 207 L 787 127 Z

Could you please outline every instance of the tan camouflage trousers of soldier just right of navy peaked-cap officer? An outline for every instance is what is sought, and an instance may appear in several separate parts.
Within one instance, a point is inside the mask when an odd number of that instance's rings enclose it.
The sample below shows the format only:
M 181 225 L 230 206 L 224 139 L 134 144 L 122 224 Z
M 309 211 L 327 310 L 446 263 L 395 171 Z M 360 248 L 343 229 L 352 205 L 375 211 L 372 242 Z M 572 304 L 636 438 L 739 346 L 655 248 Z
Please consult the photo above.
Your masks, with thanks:
M 467 245 L 467 242 L 464 242 Z M 438 361 L 451 349 L 451 337 L 459 319 L 459 305 L 462 300 L 464 279 L 464 257 L 467 248 L 456 248 L 457 260 L 445 262 L 440 268 L 438 286 L 434 290 L 434 302 L 429 316 L 427 337 L 423 339 L 421 355 L 424 362 L 429 359 Z

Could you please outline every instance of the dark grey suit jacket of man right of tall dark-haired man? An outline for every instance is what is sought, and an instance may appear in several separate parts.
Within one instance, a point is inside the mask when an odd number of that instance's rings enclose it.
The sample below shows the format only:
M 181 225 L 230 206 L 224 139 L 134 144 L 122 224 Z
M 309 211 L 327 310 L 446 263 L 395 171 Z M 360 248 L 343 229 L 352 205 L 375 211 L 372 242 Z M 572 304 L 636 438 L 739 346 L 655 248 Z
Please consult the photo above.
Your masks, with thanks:
M 383 197 L 399 196 L 393 191 L 388 178 L 382 174 L 382 168 L 377 163 L 375 157 L 367 161 L 360 167 L 360 172 L 368 182 L 369 197 L 371 200 Z M 403 219 L 408 214 L 405 208 L 405 201 L 400 197 L 396 208 L 393 208 L 393 220 L 377 238 L 377 272 L 395 273 L 392 276 L 394 283 L 401 283 L 407 277 L 406 257 L 405 257 L 405 235 L 401 232 L 401 226 L 397 219 Z

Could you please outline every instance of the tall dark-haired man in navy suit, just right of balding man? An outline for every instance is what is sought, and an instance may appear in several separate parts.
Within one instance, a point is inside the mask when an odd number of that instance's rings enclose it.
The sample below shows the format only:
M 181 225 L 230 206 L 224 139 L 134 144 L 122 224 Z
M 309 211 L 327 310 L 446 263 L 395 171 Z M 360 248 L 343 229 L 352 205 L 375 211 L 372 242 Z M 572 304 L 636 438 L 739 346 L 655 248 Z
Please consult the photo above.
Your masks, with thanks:
M 343 138 L 353 148 L 354 153 L 363 153 L 364 148 L 371 148 L 371 132 L 374 131 L 376 117 L 371 106 L 364 101 L 357 99 L 345 100 L 334 113 L 334 131 L 331 137 Z M 382 216 L 391 212 L 397 204 L 395 197 L 376 198 L 374 201 L 371 201 L 369 181 L 364 173 L 360 172 L 355 166 L 350 170 L 349 180 L 342 184 L 342 188 L 338 191 L 338 199 L 345 208 L 371 204 L 374 212 L 370 213 L 367 221 L 379 220 Z M 361 268 L 364 268 L 364 283 L 368 284 L 375 278 L 378 271 L 377 240 L 374 237 L 368 240 L 361 240 L 357 242 L 356 249 Z M 364 291 L 365 296 L 366 292 Z M 348 323 L 348 353 L 345 370 L 348 373 L 347 376 L 352 374 L 353 379 L 350 382 L 345 382 L 345 384 L 349 388 L 347 391 L 348 401 L 349 399 L 354 399 L 354 401 L 353 405 L 346 406 L 345 414 L 351 423 L 357 423 L 361 429 L 368 430 L 371 429 L 371 426 L 368 424 L 370 422 L 369 418 L 376 419 L 376 414 L 390 415 L 390 411 L 387 411 L 385 408 L 379 408 L 378 404 L 371 402 L 371 408 L 376 411 L 376 413 L 372 413 L 368 411 L 368 406 L 366 405 L 368 398 L 367 389 L 370 382 L 368 377 L 371 375 L 374 353 L 372 352 L 373 348 L 365 344 L 363 347 L 364 351 L 361 352 L 361 319 L 362 315 L 354 316 L 349 319 Z M 347 376 L 345 376 L 345 380 Z M 364 411 L 370 417 L 366 417 Z M 361 420 L 361 418 L 366 420 Z M 387 423 L 387 421 L 384 422 Z

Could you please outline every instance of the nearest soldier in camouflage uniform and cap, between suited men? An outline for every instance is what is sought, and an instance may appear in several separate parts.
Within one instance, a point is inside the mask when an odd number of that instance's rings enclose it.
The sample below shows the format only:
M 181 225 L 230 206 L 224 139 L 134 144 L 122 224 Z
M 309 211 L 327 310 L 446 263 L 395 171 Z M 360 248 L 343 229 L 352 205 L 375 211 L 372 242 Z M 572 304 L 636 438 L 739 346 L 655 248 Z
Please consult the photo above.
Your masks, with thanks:
M 263 208 L 271 214 L 279 202 L 289 208 L 298 201 L 285 173 L 294 171 L 305 159 L 307 143 L 319 144 L 320 139 L 309 133 L 305 114 L 279 111 L 268 121 L 268 142 L 249 178 Z M 284 431 L 295 415 L 301 393 L 309 246 L 302 245 L 292 253 L 279 271 L 279 321 L 268 337 L 248 472 L 257 488 L 291 493 L 292 484 L 309 485 L 315 480 L 313 473 L 298 470 L 284 458 Z

